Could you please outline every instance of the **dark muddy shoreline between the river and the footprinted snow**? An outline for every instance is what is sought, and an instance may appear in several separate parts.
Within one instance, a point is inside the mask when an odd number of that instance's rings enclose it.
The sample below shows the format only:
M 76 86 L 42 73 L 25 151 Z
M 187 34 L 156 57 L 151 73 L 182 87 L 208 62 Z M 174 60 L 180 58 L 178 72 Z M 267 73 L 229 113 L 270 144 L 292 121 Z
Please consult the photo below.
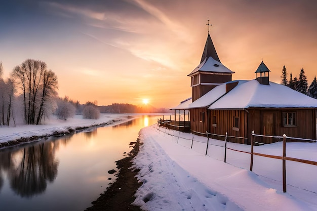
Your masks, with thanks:
M 137 139 L 136 142 L 131 142 L 134 145 L 133 149 L 128 153 L 128 157 L 116 161 L 119 172 L 116 174 L 116 180 L 107 188 L 100 197 L 92 202 L 92 206 L 86 208 L 86 211 L 111 210 L 111 211 L 141 211 L 140 207 L 132 205 L 135 200 L 135 193 L 142 185 L 135 177 L 139 172 L 133 168 L 132 159 L 138 154 L 139 147 L 143 143 Z

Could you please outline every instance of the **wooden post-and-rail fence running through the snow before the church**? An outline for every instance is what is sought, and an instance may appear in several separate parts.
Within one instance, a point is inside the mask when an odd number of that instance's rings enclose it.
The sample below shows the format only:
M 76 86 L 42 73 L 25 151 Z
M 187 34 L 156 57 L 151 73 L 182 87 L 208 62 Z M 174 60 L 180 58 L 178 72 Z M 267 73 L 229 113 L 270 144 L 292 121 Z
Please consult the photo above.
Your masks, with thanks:
M 158 130 L 160 131 L 160 127 L 158 128 Z M 165 130 L 164 133 L 166 134 L 166 130 Z M 178 133 L 177 143 L 178 143 L 179 138 L 185 139 L 185 140 L 191 140 L 190 149 L 192 149 L 193 142 L 206 143 L 206 153 L 205 153 L 205 155 L 207 155 L 207 153 L 208 153 L 208 146 L 209 145 L 213 145 L 213 146 L 224 148 L 224 162 L 226 162 L 227 149 L 232 150 L 232 151 L 236 151 L 236 152 L 242 152 L 242 153 L 250 154 L 251 155 L 251 158 L 250 158 L 250 171 L 253 170 L 253 156 L 254 155 L 282 160 L 282 167 L 283 167 L 283 192 L 286 192 L 286 160 L 294 161 L 294 162 L 300 162 L 300 163 L 306 163 L 306 164 L 310 164 L 310 165 L 317 165 L 317 161 L 305 160 L 305 159 L 299 159 L 299 158 L 287 157 L 286 156 L 286 141 L 287 141 L 287 139 L 302 140 L 302 141 L 305 141 L 305 142 L 316 142 L 316 140 L 313 140 L 313 139 L 287 137 L 286 135 L 284 135 L 284 136 L 265 136 L 265 135 L 254 134 L 254 131 L 253 131 L 252 134 L 251 134 L 251 152 L 247 152 L 247 151 L 243 151 L 243 150 L 238 150 L 238 149 L 233 149 L 233 148 L 227 147 L 227 138 L 228 137 L 230 137 L 230 138 L 239 138 L 239 139 L 247 139 L 245 137 L 228 136 L 227 133 L 225 135 L 211 134 L 211 133 L 208 133 L 207 131 L 206 131 L 206 133 L 192 131 L 192 133 L 206 136 L 207 137 L 207 143 L 203 142 L 203 141 L 199 141 L 199 140 L 194 140 L 194 137 L 192 137 L 192 139 L 180 137 L 180 131 Z M 168 135 L 174 136 L 173 134 L 169 134 L 169 133 L 168 133 Z M 225 138 L 224 146 L 209 143 L 210 136 L 224 137 Z M 263 145 L 264 145 L 264 143 L 255 142 L 253 137 L 269 137 L 269 138 L 283 139 L 283 156 L 269 155 L 269 154 L 263 154 L 263 153 L 254 152 L 253 151 L 254 143 L 263 144 Z

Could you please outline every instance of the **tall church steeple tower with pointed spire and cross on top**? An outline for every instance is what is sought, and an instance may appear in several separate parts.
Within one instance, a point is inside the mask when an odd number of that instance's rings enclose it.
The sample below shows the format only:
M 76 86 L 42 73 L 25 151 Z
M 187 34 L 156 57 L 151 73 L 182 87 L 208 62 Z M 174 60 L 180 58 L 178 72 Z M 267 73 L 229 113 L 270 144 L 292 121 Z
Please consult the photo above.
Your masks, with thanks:
M 216 86 L 231 81 L 232 73 L 234 73 L 220 62 L 209 34 L 209 26 L 211 26 L 209 20 L 207 25 L 208 36 L 201 63 L 188 74 L 188 76 L 191 77 L 190 86 L 192 102 L 199 99 Z

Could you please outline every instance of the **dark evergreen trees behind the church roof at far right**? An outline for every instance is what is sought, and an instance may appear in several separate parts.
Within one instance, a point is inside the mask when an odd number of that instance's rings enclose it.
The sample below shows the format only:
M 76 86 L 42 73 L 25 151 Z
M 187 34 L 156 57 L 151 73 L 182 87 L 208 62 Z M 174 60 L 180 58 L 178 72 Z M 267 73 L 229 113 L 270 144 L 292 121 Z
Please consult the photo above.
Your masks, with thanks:
M 281 75 L 281 85 L 287 86 L 297 92 L 303 93 L 305 95 L 308 95 L 309 97 L 317 99 L 317 81 L 316 76 L 310 83 L 308 87 L 308 81 L 307 77 L 305 75 L 305 71 L 303 68 L 301 68 L 299 72 L 299 76 L 292 77 L 292 73 L 290 73 L 290 79 L 287 79 L 287 69 L 285 66 L 283 66 L 282 69 L 282 75 Z

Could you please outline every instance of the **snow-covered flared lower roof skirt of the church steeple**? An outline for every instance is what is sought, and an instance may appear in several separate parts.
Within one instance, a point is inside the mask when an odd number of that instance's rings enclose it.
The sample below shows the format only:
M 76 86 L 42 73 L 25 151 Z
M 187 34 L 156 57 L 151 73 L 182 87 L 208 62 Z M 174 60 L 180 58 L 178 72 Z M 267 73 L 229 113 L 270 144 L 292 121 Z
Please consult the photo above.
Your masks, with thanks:
M 191 76 L 192 74 L 198 71 L 234 73 L 212 57 L 205 58 L 205 60 L 200 65 L 198 65 L 193 71 L 191 71 L 191 73 L 189 73 L 188 76 Z

